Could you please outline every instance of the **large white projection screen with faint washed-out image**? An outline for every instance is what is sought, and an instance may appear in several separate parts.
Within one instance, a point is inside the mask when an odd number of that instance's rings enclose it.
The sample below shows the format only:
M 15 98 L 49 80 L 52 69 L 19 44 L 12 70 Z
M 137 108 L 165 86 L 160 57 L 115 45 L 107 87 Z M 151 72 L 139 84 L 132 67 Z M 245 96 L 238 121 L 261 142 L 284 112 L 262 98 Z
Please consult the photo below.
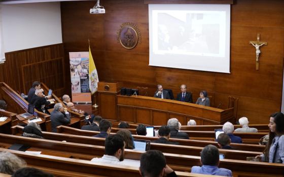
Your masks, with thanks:
M 149 5 L 153 66 L 229 73 L 230 5 Z

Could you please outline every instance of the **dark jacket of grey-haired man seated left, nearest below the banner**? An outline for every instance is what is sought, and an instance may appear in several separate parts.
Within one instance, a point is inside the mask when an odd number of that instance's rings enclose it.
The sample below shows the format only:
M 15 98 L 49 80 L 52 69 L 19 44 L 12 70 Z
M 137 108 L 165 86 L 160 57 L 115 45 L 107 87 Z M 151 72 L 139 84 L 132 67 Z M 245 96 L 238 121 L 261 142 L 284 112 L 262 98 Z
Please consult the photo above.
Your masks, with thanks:
M 70 123 L 70 115 L 63 114 L 60 111 L 53 110 L 50 115 L 52 132 L 56 132 L 56 127 L 62 124 Z

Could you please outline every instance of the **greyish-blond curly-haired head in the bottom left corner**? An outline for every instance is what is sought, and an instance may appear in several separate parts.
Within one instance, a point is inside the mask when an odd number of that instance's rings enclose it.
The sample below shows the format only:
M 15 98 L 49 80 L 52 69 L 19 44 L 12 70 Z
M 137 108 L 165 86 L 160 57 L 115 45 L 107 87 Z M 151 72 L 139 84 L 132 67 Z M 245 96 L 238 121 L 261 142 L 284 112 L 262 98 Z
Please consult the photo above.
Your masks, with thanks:
M 26 162 L 10 152 L 0 152 L 0 172 L 14 174 L 26 166 Z

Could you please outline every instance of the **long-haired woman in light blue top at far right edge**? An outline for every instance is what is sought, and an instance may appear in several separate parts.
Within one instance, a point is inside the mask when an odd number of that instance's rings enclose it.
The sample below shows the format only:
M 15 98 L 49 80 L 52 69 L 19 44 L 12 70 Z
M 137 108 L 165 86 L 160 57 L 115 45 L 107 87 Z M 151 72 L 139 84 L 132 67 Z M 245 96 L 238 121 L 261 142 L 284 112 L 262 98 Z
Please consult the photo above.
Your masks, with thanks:
M 264 154 L 256 156 L 263 162 L 284 163 L 284 114 L 276 112 L 270 115 L 269 141 Z

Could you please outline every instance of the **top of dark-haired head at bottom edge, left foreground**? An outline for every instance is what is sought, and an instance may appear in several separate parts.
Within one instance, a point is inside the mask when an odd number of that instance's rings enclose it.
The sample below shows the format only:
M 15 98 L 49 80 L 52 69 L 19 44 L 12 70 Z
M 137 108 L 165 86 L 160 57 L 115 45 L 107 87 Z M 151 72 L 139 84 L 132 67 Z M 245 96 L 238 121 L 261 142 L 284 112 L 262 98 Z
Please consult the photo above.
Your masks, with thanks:
M 37 168 L 25 167 L 18 169 L 12 177 L 53 177 L 53 174 L 44 172 Z

